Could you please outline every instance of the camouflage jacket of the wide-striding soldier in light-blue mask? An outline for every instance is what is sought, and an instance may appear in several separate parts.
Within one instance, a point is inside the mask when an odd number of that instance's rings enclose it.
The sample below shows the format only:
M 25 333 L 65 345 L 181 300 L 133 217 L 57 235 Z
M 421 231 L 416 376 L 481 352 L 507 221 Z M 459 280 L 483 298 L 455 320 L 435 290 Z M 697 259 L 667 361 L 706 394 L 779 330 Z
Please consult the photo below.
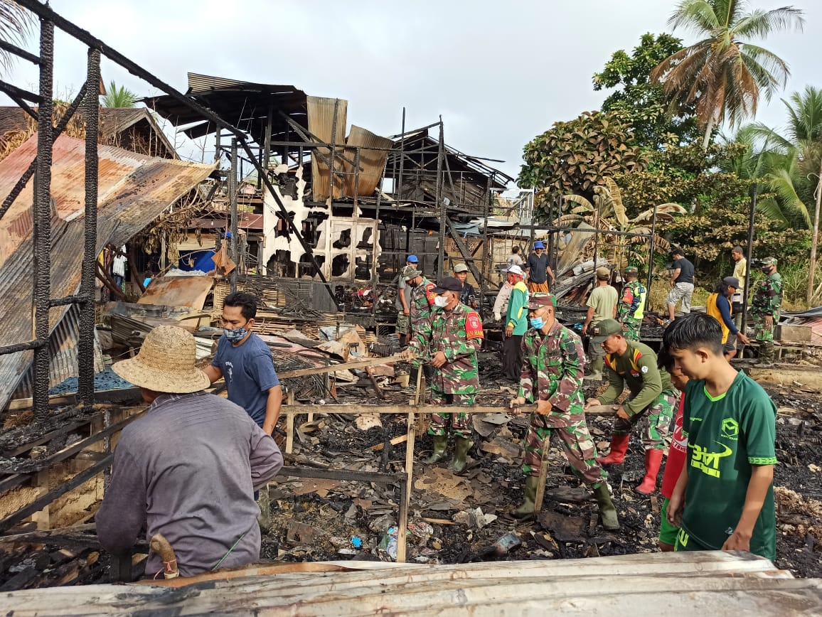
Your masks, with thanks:
M 567 417 L 583 413 L 585 352 L 575 332 L 559 321 L 554 321 L 548 334 L 530 328 L 522 338 L 522 356 L 519 396 L 529 403 L 551 403 L 549 426 L 566 426 Z

